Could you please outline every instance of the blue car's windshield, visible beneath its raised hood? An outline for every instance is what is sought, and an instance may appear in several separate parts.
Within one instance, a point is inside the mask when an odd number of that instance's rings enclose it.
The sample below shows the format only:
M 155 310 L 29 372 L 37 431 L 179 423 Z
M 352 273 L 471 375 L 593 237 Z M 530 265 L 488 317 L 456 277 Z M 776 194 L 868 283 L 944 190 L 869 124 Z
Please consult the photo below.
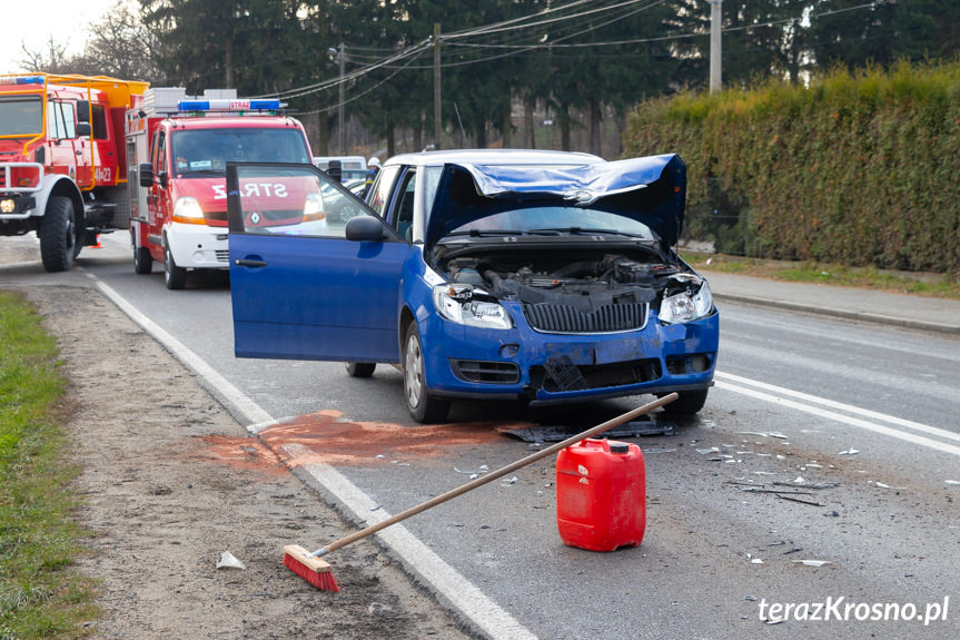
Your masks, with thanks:
M 654 239 L 650 227 L 610 211 L 581 207 L 542 206 L 493 214 L 463 226 L 448 235 L 581 235 L 616 234 Z

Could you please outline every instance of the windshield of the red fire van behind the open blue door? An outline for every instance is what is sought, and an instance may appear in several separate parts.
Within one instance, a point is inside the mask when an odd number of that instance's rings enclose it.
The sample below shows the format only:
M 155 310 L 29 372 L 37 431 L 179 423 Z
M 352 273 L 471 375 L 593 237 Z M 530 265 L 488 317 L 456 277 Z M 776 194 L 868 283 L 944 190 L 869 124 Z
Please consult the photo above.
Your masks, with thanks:
M 171 137 L 178 176 L 222 173 L 227 163 L 309 163 L 304 135 L 294 128 L 191 129 Z

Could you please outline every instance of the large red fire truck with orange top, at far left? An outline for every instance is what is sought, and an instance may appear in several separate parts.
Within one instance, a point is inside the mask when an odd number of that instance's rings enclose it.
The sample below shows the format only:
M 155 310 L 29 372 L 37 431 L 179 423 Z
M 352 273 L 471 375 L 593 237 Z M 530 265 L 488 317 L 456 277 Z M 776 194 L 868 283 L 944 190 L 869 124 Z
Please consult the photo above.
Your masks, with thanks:
M 0 236 L 36 232 L 48 272 L 127 228 L 125 114 L 146 82 L 0 76 Z

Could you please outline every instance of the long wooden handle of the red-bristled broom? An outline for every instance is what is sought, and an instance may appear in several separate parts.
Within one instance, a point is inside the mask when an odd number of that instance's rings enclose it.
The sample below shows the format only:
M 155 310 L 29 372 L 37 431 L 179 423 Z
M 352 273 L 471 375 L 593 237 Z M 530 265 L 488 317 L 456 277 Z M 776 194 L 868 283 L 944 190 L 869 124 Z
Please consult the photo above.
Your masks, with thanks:
M 331 551 L 336 551 L 337 549 L 339 549 L 342 547 L 346 547 L 350 542 L 356 542 L 357 540 L 360 540 L 362 538 L 366 538 L 367 535 L 370 535 L 372 533 L 376 533 L 380 529 L 386 529 L 390 524 L 396 524 L 397 522 L 399 522 L 402 520 L 406 520 L 410 515 L 416 515 L 417 513 L 420 513 L 422 511 L 426 511 L 427 509 L 430 509 L 432 506 L 436 506 L 437 504 L 446 502 L 447 500 L 456 498 L 457 495 L 463 495 L 467 491 L 473 491 L 477 486 L 481 486 L 481 485 L 486 484 L 488 482 L 493 482 L 497 477 L 502 477 L 502 476 L 506 475 L 507 473 L 511 473 L 512 471 L 516 471 L 517 469 L 519 469 L 522 466 L 526 466 L 527 464 L 536 462 L 537 460 L 546 457 L 547 455 L 554 454 L 554 453 L 561 451 L 562 449 L 566 449 L 567 446 L 576 444 L 577 442 L 580 442 L 582 440 L 586 440 L 587 437 L 592 437 L 598 433 L 603 433 L 604 431 L 607 431 L 608 429 L 613 429 L 614 426 L 623 424 L 624 422 L 630 422 L 631 420 L 633 420 L 640 415 L 643 415 L 645 413 L 650 413 L 654 408 L 663 406 L 664 404 L 669 404 L 669 403 L 673 402 L 674 400 L 676 400 L 677 397 L 679 396 L 676 395 L 676 393 L 671 393 L 671 394 L 667 394 L 663 397 L 660 397 L 660 398 L 657 398 L 651 403 L 644 404 L 643 406 L 639 406 L 632 411 L 629 411 L 622 415 L 618 415 L 617 417 L 613 417 L 611 420 L 607 420 L 603 424 L 598 424 L 592 429 L 584 431 L 583 433 L 567 437 L 563 442 L 557 442 L 556 444 L 553 444 L 553 445 L 551 445 L 551 446 L 548 446 L 542 451 L 538 451 L 536 453 L 527 455 L 526 457 L 518 460 L 518 461 L 514 462 L 513 464 L 507 464 L 506 466 L 504 466 L 502 469 L 498 469 L 496 471 L 487 473 L 486 475 L 484 475 L 482 477 L 477 477 L 476 480 L 467 482 L 466 484 L 463 484 L 456 489 L 452 489 L 451 491 L 447 491 L 446 493 L 442 493 L 442 494 L 437 495 L 436 498 L 432 498 L 432 499 L 427 500 L 426 502 L 422 502 L 420 504 L 417 504 L 415 506 L 410 506 L 406 511 L 402 511 L 402 512 L 397 513 L 396 515 L 393 515 L 390 518 L 387 518 L 386 520 L 382 520 L 382 521 L 377 522 L 376 524 L 370 524 L 366 529 L 362 529 L 360 531 L 357 531 L 356 533 L 352 533 L 350 535 L 347 535 L 345 538 L 340 538 L 339 540 L 331 542 L 331 543 L 327 544 L 326 547 L 314 551 L 313 553 L 310 553 L 310 555 L 314 558 L 317 558 L 320 555 L 326 555 L 327 553 L 329 553 Z

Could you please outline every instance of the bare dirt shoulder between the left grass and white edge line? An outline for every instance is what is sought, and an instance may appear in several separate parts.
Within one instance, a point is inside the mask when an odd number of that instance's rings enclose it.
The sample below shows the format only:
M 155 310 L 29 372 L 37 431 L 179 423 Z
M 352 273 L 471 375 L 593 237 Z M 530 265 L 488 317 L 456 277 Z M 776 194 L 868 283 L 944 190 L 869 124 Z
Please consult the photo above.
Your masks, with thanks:
M 339 593 L 294 575 L 284 544 L 320 545 L 355 528 L 96 289 L 26 293 L 69 378 L 77 519 L 90 532 L 78 570 L 101 581 L 92 637 L 471 637 L 370 541 L 331 557 Z M 224 551 L 247 569 L 218 570 Z

